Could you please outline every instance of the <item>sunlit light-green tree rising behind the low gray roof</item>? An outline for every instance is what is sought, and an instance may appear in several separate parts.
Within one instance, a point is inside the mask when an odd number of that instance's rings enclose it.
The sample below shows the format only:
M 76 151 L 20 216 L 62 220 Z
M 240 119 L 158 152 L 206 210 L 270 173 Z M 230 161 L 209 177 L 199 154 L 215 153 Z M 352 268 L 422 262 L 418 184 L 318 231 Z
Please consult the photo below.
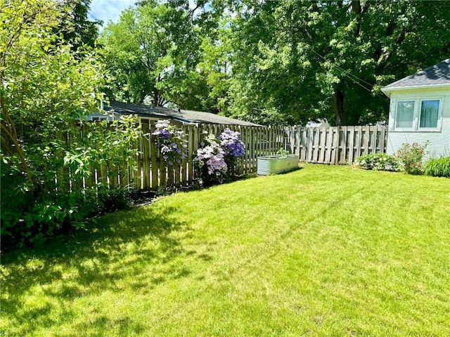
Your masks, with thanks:
M 120 21 L 110 23 L 101 36 L 110 73 L 108 96 L 138 104 L 204 108 L 209 89 L 197 70 L 197 23 L 188 1 L 141 1 L 123 11 Z

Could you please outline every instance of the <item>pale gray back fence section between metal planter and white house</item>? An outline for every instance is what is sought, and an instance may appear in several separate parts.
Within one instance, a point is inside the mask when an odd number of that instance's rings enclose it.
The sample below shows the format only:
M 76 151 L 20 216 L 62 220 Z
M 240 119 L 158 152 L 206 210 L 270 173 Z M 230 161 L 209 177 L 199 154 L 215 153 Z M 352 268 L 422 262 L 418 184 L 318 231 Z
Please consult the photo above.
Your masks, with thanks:
M 310 163 L 353 164 L 359 156 L 386 150 L 386 126 L 290 126 L 285 132 L 286 148 Z

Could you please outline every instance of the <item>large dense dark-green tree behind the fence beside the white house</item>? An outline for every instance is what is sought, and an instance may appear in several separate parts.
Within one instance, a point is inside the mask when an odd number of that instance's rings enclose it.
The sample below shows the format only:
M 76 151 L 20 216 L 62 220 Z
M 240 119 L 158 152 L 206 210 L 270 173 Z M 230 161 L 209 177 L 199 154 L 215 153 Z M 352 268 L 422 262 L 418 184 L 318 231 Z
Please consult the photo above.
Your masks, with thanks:
M 381 86 L 450 54 L 440 1 L 239 1 L 233 11 L 229 110 L 250 119 L 383 120 Z

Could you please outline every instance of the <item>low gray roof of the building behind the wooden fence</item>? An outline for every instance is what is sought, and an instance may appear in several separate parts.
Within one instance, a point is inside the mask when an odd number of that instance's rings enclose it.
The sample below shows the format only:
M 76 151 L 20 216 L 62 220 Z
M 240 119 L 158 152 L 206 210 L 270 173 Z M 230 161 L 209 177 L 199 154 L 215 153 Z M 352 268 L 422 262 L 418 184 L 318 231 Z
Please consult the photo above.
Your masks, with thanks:
M 242 126 L 262 126 L 249 121 L 240 121 L 229 117 L 219 116 L 210 112 L 175 110 L 167 107 L 150 107 L 148 105 L 138 105 L 132 103 L 110 102 L 109 108 L 120 114 L 137 114 L 140 117 L 153 117 L 160 119 L 174 119 L 184 123 L 212 123 L 212 124 L 230 124 Z

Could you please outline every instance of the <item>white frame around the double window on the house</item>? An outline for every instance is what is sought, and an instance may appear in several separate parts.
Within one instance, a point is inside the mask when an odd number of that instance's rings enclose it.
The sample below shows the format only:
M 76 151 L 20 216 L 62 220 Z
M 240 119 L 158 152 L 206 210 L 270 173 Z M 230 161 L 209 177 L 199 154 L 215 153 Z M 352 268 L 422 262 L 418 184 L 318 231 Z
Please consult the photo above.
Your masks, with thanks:
M 420 128 L 420 113 L 422 112 L 422 102 L 425 100 L 438 100 L 439 101 L 439 111 L 437 115 L 437 126 L 435 128 Z M 397 107 L 399 102 L 414 102 L 414 117 L 412 128 L 399 128 L 397 127 Z M 411 98 L 411 97 L 399 97 L 392 100 L 392 110 L 394 117 L 392 131 L 404 131 L 404 132 L 441 132 L 442 131 L 442 112 L 444 111 L 444 97 L 443 96 L 425 96 L 421 98 Z

